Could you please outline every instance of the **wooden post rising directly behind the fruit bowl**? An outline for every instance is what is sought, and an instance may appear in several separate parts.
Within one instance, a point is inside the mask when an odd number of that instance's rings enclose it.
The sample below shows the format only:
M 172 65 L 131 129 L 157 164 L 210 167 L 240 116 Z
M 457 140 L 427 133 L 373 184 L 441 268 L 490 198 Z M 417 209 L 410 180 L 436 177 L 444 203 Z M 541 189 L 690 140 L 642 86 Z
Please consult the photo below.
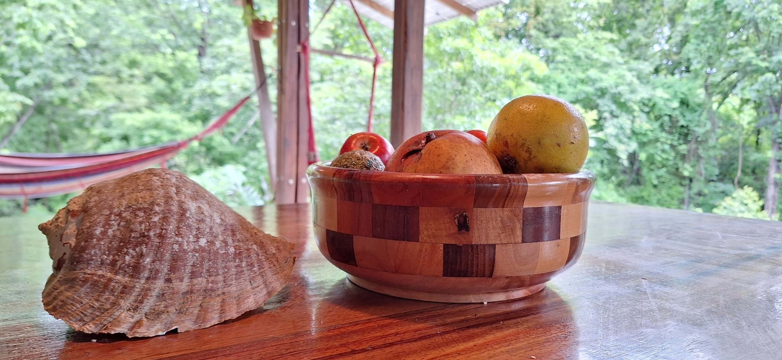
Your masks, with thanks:
M 425 0 L 396 0 L 393 26 L 391 144 L 421 132 Z

